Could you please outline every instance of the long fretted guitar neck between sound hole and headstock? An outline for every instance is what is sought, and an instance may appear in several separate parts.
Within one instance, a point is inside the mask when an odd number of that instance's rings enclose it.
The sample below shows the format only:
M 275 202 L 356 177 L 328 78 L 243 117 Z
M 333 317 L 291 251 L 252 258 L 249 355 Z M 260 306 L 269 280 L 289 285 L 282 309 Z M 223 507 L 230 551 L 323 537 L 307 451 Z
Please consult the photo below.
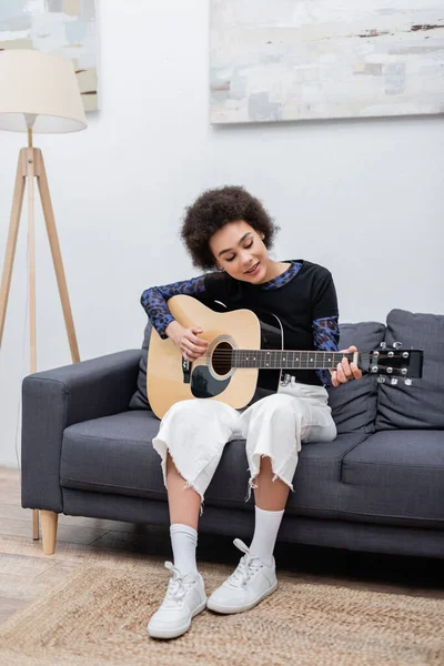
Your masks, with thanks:
M 232 367 L 259 367 L 286 370 L 329 370 L 335 369 L 343 357 L 354 361 L 355 354 L 319 351 L 283 350 L 233 350 Z M 357 354 L 360 364 L 362 354 Z

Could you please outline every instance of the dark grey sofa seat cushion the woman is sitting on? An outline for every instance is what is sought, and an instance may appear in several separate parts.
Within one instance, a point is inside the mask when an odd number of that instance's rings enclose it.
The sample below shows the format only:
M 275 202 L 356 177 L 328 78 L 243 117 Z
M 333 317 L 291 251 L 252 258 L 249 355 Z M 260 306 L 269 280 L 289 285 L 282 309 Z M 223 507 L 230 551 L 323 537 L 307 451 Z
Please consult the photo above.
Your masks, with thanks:
M 64 431 L 61 485 L 64 488 L 167 500 L 160 457 L 151 445 L 159 420 L 149 411 L 130 411 L 71 425 Z M 344 454 L 365 438 L 340 435 L 334 442 L 302 446 L 289 512 L 334 517 L 337 513 Z M 250 509 L 245 441 L 226 444 L 205 494 L 205 505 Z

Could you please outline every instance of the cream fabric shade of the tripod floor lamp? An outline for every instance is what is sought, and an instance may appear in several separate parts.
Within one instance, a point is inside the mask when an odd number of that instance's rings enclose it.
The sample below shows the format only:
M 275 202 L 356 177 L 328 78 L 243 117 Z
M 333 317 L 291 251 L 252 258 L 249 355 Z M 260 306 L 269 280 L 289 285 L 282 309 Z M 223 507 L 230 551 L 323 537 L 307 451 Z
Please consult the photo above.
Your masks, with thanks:
M 0 130 L 77 132 L 87 128 L 70 60 L 36 50 L 0 51 Z

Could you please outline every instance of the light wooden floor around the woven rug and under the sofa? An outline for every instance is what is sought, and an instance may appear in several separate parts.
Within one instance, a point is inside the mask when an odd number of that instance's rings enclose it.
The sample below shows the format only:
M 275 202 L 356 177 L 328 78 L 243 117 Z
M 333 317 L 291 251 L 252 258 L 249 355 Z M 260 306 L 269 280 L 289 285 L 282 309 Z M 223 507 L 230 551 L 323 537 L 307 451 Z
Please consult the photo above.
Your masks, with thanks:
M 85 553 L 104 552 L 171 559 L 169 528 L 62 515 L 56 553 L 46 556 L 41 541 L 32 541 L 32 512 L 20 505 L 19 471 L 0 467 L 0 623 L 49 592 L 80 566 Z M 231 538 L 199 536 L 202 559 L 235 565 L 239 555 Z M 278 568 L 309 573 L 316 579 L 444 599 L 442 561 L 289 544 L 279 544 L 275 557 Z

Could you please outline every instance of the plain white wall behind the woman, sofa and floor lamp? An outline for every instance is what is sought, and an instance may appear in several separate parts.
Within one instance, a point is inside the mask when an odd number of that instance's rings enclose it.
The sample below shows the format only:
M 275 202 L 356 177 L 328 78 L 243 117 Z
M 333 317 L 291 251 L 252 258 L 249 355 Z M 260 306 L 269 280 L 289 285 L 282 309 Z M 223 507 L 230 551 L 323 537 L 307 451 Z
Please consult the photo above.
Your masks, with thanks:
M 99 2 L 100 107 L 78 134 L 37 137 L 81 359 L 138 347 L 143 289 L 194 274 L 185 205 L 243 184 L 281 233 L 276 258 L 334 275 L 342 321 L 392 307 L 443 312 L 444 117 L 210 127 L 209 11 L 202 0 Z M 0 133 L 0 262 L 17 154 Z M 0 352 L 0 464 L 17 465 L 28 373 L 26 208 Z M 38 367 L 70 363 L 44 223 L 38 219 Z M 23 337 L 23 335 L 27 337 Z

